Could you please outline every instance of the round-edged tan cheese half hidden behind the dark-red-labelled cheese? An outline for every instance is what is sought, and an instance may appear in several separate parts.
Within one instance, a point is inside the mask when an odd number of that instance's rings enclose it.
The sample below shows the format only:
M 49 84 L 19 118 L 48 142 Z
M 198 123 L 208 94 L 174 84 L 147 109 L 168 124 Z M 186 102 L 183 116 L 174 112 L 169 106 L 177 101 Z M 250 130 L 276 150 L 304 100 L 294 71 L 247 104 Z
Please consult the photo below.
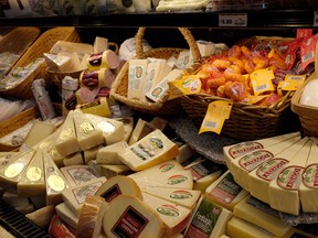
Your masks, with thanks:
M 141 191 L 136 182 L 127 176 L 117 175 L 108 178 L 95 193 L 102 196 L 107 203 L 119 196 L 120 194 L 130 195 L 141 199 Z

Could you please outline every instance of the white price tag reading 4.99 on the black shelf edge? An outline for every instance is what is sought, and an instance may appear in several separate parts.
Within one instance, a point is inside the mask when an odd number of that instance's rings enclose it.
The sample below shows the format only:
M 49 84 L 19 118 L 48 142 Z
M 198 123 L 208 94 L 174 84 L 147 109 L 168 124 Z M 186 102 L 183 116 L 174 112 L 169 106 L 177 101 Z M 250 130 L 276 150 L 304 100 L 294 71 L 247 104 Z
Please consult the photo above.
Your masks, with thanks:
M 220 13 L 219 26 L 247 26 L 246 13 Z

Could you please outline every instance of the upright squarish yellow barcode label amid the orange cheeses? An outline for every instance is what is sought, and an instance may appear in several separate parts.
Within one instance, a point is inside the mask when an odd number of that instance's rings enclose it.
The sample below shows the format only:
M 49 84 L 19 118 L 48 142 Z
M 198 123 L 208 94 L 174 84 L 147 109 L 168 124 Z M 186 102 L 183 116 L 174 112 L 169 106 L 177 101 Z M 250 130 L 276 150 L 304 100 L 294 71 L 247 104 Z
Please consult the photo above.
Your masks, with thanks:
M 257 96 L 265 91 L 274 91 L 274 86 L 272 80 L 275 78 L 272 69 L 257 69 L 251 75 L 251 83 L 253 86 L 254 95 Z

